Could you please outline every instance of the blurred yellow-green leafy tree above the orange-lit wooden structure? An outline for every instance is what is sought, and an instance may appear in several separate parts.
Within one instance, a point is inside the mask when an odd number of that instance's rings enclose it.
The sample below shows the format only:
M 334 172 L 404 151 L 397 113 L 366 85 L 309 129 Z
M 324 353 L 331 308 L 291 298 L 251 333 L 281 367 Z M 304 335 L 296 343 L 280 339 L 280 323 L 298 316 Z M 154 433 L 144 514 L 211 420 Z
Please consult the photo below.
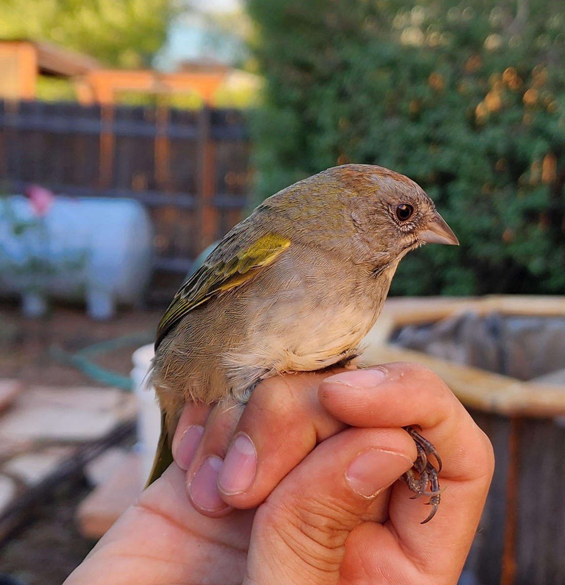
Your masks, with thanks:
M 176 0 L 0 0 L 0 38 L 48 40 L 113 66 L 150 64 Z

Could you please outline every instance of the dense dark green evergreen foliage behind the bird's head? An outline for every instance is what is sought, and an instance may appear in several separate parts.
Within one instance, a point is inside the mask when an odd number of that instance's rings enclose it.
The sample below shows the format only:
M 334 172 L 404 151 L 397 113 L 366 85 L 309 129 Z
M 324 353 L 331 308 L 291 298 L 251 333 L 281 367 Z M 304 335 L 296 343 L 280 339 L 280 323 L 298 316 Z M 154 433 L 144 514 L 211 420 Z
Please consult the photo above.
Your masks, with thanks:
M 257 199 L 323 168 L 413 178 L 459 249 L 409 254 L 393 294 L 565 291 L 561 0 L 249 0 L 266 77 Z

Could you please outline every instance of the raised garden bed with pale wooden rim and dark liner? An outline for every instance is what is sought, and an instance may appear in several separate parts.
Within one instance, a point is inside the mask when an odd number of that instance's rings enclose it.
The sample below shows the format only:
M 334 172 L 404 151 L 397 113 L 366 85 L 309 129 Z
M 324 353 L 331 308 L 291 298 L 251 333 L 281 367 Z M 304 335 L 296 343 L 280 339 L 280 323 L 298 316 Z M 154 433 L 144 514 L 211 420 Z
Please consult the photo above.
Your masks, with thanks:
M 392 299 L 367 341 L 366 363 L 434 370 L 491 439 L 467 568 L 484 585 L 565 583 L 565 298 Z

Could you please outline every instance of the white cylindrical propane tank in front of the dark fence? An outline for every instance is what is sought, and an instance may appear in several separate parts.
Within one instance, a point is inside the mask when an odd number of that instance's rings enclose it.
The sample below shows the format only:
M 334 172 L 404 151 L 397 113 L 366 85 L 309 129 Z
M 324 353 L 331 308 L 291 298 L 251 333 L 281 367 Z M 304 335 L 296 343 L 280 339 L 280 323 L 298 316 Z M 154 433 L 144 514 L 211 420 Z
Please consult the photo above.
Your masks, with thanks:
M 152 229 L 133 199 L 56 197 L 37 216 L 25 197 L 0 199 L 0 295 L 20 294 L 40 315 L 46 298 L 85 300 L 107 319 L 135 303 L 151 273 Z

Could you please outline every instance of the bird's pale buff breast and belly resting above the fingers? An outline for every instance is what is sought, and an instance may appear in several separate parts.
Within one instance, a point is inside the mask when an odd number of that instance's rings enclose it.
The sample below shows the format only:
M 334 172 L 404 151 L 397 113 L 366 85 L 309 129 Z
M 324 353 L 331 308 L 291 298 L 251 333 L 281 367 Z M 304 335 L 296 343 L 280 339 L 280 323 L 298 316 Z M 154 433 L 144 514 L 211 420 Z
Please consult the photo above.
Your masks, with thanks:
M 259 374 L 331 366 L 374 325 L 387 292 L 375 289 L 374 278 L 332 259 L 303 259 L 278 263 L 252 288 L 245 339 L 223 356 L 236 393 Z

